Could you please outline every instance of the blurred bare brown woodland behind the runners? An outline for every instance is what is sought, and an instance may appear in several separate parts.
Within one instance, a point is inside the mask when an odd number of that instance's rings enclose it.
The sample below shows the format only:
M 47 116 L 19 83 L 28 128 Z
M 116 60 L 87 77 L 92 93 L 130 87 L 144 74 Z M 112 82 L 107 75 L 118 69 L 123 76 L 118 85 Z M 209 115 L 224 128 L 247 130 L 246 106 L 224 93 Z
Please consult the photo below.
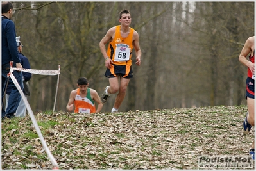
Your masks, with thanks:
M 132 15 L 140 37 L 142 65 L 119 111 L 246 104 L 246 71 L 238 56 L 255 31 L 252 2 L 13 2 L 17 36 L 31 69 L 57 70 L 55 111 L 66 111 L 78 77 L 99 95 L 108 85 L 99 41 L 118 25 L 121 10 Z M 33 111 L 53 110 L 57 76 L 33 74 Z M 116 94 L 115 94 L 116 95 Z M 110 112 L 111 95 L 102 112 Z

